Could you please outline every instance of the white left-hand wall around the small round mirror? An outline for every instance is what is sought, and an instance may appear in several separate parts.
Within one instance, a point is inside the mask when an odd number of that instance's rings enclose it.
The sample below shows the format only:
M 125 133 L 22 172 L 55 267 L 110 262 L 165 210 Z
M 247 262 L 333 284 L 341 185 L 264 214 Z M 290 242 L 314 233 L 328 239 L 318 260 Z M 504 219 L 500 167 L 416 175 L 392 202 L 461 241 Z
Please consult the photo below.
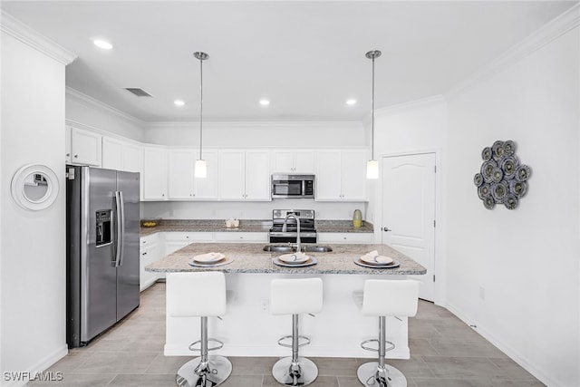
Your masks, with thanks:
M 3 28 L 1 78 L 2 372 L 39 372 L 67 353 L 64 64 Z M 29 163 L 60 180 L 56 202 L 42 211 L 20 208 L 10 195 L 14 172 Z M 4 374 L 3 382 L 18 384 Z

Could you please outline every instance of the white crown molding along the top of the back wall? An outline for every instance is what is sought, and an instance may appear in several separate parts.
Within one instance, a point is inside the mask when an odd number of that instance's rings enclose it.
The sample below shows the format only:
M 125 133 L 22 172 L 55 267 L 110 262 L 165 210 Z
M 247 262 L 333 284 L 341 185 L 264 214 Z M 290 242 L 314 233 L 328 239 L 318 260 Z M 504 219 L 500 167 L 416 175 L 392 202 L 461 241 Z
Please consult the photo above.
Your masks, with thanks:
M 353 126 L 360 126 L 360 121 L 211 121 L 204 122 L 204 128 L 302 128 L 304 126 L 310 128 L 328 128 L 342 127 L 352 128 Z M 149 122 L 145 123 L 145 129 L 197 129 L 199 121 L 190 122 Z

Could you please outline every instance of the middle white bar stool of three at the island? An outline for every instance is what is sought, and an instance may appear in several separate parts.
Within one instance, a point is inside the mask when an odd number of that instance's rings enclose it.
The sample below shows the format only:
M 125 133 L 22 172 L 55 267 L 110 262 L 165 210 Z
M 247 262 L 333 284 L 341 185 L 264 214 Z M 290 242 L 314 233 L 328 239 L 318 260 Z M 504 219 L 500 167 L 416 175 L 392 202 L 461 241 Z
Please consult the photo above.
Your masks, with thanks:
M 284 336 L 278 344 L 292 347 L 292 357 L 280 359 L 272 367 L 275 380 L 287 386 L 305 386 L 314 382 L 318 367 L 313 361 L 298 356 L 298 348 L 310 339 L 298 335 L 298 314 L 318 313 L 323 308 L 323 280 L 320 278 L 273 279 L 270 310 L 272 314 L 292 314 L 292 335 Z M 292 344 L 282 343 L 292 338 Z M 299 343 L 304 339 L 303 343 Z

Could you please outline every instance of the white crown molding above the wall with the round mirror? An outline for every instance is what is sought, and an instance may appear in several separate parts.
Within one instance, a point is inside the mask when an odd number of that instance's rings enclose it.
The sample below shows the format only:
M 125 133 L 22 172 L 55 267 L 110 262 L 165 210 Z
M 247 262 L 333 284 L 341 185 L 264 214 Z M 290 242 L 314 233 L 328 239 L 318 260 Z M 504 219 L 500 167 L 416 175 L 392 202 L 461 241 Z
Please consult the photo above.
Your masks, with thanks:
M 63 46 L 54 43 L 3 10 L 0 10 L 0 30 L 64 65 L 73 63 L 77 58 L 75 53 L 71 53 Z

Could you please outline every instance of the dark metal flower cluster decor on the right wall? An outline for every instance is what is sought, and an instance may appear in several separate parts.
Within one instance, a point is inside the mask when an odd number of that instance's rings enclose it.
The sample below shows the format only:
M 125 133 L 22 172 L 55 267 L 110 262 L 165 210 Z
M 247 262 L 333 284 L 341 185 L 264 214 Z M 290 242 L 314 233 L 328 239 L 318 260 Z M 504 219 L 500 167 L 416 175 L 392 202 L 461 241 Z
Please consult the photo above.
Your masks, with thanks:
M 519 199 L 526 195 L 531 169 L 517 160 L 516 143 L 497 140 L 481 150 L 481 159 L 481 170 L 473 182 L 485 208 L 492 209 L 496 203 L 517 208 Z

